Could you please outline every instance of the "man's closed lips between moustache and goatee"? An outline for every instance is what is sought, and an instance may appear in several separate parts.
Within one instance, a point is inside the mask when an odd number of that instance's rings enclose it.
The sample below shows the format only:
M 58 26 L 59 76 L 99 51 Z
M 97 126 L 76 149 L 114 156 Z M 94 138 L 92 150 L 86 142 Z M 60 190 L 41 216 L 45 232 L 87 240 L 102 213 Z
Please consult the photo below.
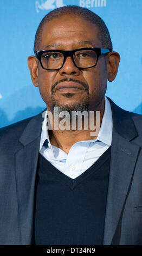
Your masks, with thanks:
M 63 82 L 63 83 L 59 83 L 57 84 L 55 90 L 58 92 L 78 92 L 80 90 L 84 90 L 85 88 L 76 82 Z

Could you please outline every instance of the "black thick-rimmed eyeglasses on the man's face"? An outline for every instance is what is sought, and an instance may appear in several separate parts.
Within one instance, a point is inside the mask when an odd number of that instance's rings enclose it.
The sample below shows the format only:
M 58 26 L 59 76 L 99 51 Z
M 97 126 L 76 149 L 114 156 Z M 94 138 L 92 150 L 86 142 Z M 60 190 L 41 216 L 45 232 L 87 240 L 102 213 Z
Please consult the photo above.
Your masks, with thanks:
M 59 70 L 63 67 L 66 58 L 70 56 L 74 65 L 80 69 L 89 69 L 95 66 L 101 54 L 110 52 L 106 48 L 80 48 L 73 51 L 42 50 L 35 56 L 40 60 L 43 69 Z

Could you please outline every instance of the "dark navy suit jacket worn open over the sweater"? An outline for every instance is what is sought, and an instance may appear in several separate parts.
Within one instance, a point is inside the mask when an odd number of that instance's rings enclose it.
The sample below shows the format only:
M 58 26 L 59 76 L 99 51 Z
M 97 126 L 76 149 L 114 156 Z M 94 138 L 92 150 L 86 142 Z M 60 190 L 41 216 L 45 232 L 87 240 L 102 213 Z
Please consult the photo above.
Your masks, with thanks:
M 142 115 L 111 101 L 104 245 L 142 245 Z M 0 129 L 0 245 L 30 245 L 42 114 Z

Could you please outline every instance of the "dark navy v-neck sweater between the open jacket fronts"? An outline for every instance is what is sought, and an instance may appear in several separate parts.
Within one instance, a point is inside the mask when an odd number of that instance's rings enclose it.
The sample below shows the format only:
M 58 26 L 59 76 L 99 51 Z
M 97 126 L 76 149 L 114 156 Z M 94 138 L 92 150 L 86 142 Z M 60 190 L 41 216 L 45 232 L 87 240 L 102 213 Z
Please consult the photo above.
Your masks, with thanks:
M 84 173 L 69 178 L 38 157 L 34 245 L 102 245 L 111 147 Z

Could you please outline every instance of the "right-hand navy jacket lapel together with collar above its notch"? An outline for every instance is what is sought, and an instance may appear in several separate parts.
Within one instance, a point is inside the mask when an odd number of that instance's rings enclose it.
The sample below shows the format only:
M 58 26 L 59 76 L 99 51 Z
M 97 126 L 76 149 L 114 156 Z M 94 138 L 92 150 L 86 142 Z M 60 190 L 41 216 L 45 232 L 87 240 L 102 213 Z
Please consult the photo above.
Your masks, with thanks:
M 139 146 L 131 143 L 138 136 L 132 118 L 110 99 L 113 116 L 111 167 L 104 230 L 104 245 L 119 244 L 117 227 L 133 178 Z M 114 238 L 115 237 L 115 238 Z

